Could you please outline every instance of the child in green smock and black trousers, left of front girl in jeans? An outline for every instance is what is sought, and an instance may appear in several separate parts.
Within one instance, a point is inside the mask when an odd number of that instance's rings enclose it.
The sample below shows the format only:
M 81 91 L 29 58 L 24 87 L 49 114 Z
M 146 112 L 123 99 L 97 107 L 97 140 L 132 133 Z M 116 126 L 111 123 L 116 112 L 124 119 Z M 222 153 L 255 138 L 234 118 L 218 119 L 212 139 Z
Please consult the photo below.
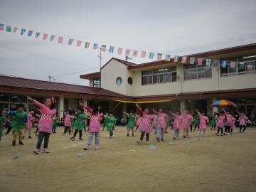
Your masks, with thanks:
M 70 139 L 72 141 L 74 141 L 75 140 L 75 136 L 76 136 L 76 134 L 79 131 L 79 140 L 82 141 L 82 129 L 84 127 L 84 119 L 85 119 L 84 109 L 82 107 L 78 108 L 78 113 L 75 114 L 75 118 L 74 119 L 75 119 L 75 123 L 74 123 L 75 132 L 74 132 L 74 136 L 70 137 Z

